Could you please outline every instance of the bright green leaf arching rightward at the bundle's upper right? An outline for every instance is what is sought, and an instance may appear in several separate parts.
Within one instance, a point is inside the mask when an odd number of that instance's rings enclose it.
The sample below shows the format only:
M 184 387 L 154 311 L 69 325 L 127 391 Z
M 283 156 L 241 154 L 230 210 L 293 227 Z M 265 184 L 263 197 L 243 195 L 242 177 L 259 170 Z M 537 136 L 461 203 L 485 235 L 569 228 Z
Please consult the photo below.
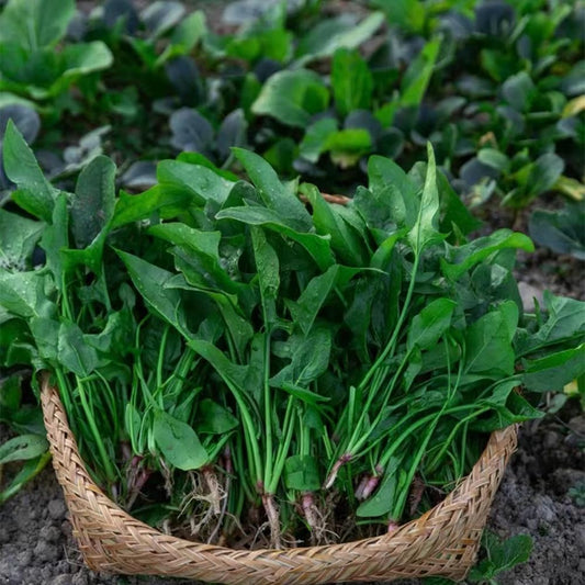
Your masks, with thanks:
M 448 260 L 441 258 L 442 273 L 450 280 L 457 280 L 492 254 L 506 248 L 535 250 L 528 236 L 509 229 L 497 229 L 490 236 L 480 237 L 470 244 L 450 247 Z

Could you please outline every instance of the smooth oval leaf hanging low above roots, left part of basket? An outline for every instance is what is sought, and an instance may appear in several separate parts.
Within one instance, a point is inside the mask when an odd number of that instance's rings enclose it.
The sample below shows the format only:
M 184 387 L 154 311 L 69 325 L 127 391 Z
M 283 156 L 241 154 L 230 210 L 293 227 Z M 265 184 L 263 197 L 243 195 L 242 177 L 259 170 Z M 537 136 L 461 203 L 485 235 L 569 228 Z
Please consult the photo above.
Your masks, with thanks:
M 209 461 L 196 432 L 164 410 L 155 412 L 153 436 L 162 457 L 177 469 L 196 470 Z

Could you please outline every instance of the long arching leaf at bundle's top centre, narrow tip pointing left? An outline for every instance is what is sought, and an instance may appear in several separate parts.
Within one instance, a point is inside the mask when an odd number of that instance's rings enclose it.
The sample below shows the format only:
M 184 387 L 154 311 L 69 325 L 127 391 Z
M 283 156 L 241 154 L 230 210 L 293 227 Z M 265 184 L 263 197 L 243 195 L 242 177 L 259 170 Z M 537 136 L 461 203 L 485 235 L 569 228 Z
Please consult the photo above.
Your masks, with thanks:
M 334 263 L 329 239 L 317 234 L 296 232 L 285 225 L 279 215 L 266 207 L 229 207 L 216 215 L 217 220 L 236 220 L 248 225 L 261 225 L 297 241 L 313 257 L 320 270 Z

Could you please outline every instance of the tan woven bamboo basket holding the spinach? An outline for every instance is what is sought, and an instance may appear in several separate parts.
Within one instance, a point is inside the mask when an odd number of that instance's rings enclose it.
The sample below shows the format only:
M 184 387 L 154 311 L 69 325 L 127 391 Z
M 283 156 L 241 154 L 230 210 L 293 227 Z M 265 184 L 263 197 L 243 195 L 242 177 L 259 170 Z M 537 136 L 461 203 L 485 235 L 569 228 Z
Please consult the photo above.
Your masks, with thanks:
M 475 562 L 492 499 L 516 448 L 516 427 L 493 432 L 471 473 L 443 502 L 392 535 L 344 544 L 233 550 L 167 536 L 132 518 L 93 483 L 58 390 L 42 386 L 53 465 L 88 566 L 225 584 L 318 584 L 442 575 L 461 580 Z

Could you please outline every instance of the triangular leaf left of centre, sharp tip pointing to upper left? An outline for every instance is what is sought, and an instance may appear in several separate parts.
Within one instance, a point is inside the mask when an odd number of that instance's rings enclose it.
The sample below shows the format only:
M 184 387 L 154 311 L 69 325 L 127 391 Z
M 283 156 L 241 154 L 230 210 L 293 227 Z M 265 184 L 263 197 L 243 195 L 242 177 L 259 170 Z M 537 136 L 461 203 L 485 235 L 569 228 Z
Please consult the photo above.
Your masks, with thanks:
M 116 252 L 126 265 L 132 282 L 148 306 L 180 333 L 188 335 L 180 291 L 166 288 L 173 273 L 132 254 L 122 250 L 116 250 Z

